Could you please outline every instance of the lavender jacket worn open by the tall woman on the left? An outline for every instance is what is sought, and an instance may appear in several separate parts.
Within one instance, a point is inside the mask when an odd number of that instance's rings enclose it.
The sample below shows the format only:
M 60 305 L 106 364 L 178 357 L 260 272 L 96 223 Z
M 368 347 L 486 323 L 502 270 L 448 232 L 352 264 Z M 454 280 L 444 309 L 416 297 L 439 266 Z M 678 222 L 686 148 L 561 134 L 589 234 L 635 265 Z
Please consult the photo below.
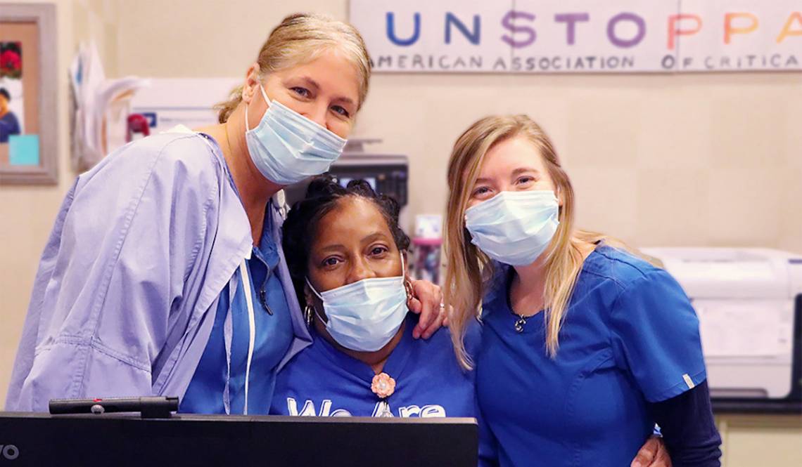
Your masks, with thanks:
M 279 247 L 281 198 L 266 213 Z M 56 216 L 6 410 L 47 412 L 53 398 L 183 398 L 218 298 L 252 252 L 248 215 L 209 136 L 161 133 L 108 155 L 79 175 Z M 285 286 L 294 331 L 281 366 L 311 337 L 277 254 L 271 276 Z

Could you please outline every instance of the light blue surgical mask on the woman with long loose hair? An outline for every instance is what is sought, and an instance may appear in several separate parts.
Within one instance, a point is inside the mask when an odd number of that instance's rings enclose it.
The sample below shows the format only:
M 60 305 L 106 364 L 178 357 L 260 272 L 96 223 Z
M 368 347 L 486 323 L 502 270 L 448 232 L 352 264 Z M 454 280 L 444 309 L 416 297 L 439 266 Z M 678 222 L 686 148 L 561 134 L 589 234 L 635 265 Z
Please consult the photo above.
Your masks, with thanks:
M 550 190 L 501 191 L 465 211 L 471 243 L 487 256 L 512 266 L 532 264 L 549 247 L 560 224 L 559 204 Z

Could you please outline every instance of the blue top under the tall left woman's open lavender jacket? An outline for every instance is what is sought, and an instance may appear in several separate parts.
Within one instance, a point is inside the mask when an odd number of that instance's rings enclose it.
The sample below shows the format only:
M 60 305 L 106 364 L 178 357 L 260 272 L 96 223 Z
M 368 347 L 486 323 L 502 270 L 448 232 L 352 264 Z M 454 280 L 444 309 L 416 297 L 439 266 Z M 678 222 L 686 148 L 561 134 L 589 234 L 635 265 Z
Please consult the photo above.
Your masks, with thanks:
M 279 256 L 271 238 L 270 216 L 265 215 L 260 246 L 253 247 L 249 271 L 253 311 L 255 314 L 256 341 L 251 360 L 248 413 L 266 414 L 273 399 L 275 368 L 282 361 L 293 340 L 292 319 L 282 282 L 273 270 Z M 235 272 L 239 275 L 239 270 Z M 225 317 L 231 304 L 231 374 L 229 380 L 230 413 L 243 413 L 245 409 L 245 367 L 248 360 L 249 323 L 248 306 L 242 277 L 237 284 L 234 300 L 226 287 L 217 302 L 212 334 L 206 344 L 201 361 L 189 382 L 180 402 L 183 413 L 225 413 L 223 393 L 228 367 L 225 355 Z

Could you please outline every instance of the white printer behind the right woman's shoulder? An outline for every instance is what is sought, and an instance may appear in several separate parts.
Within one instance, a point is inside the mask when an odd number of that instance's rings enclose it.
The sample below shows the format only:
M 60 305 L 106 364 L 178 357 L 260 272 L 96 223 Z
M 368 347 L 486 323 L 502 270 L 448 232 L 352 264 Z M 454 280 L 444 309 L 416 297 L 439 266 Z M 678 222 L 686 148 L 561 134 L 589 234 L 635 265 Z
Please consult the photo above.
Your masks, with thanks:
M 711 397 L 788 397 L 802 255 L 768 248 L 641 252 L 660 260 L 691 297 Z

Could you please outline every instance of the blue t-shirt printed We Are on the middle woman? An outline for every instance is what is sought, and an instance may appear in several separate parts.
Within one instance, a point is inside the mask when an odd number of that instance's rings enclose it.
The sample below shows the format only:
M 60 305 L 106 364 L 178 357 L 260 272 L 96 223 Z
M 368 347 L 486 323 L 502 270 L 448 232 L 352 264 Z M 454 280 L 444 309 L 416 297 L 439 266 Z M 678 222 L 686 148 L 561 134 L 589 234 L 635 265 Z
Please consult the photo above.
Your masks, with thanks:
M 457 363 L 448 328 L 428 340 L 415 340 L 418 316 L 407 315 L 399 344 L 387 358 L 383 372 L 395 379 L 395 393 L 387 398 L 394 417 L 476 417 L 480 424 L 480 455 L 492 457 L 486 444 L 474 393 L 474 372 Z M 375 417 L 383 409 L 371 391 L 375 373 L 368 364 L 334 348 L 310 329 L 313 343 L 286 364 L 276 378 L 270 413 L 302 417 Z M 465 345 L 476 350 L 478 324 L 468 328 Z M 483 461 L 484 464 L 484 461 Z

